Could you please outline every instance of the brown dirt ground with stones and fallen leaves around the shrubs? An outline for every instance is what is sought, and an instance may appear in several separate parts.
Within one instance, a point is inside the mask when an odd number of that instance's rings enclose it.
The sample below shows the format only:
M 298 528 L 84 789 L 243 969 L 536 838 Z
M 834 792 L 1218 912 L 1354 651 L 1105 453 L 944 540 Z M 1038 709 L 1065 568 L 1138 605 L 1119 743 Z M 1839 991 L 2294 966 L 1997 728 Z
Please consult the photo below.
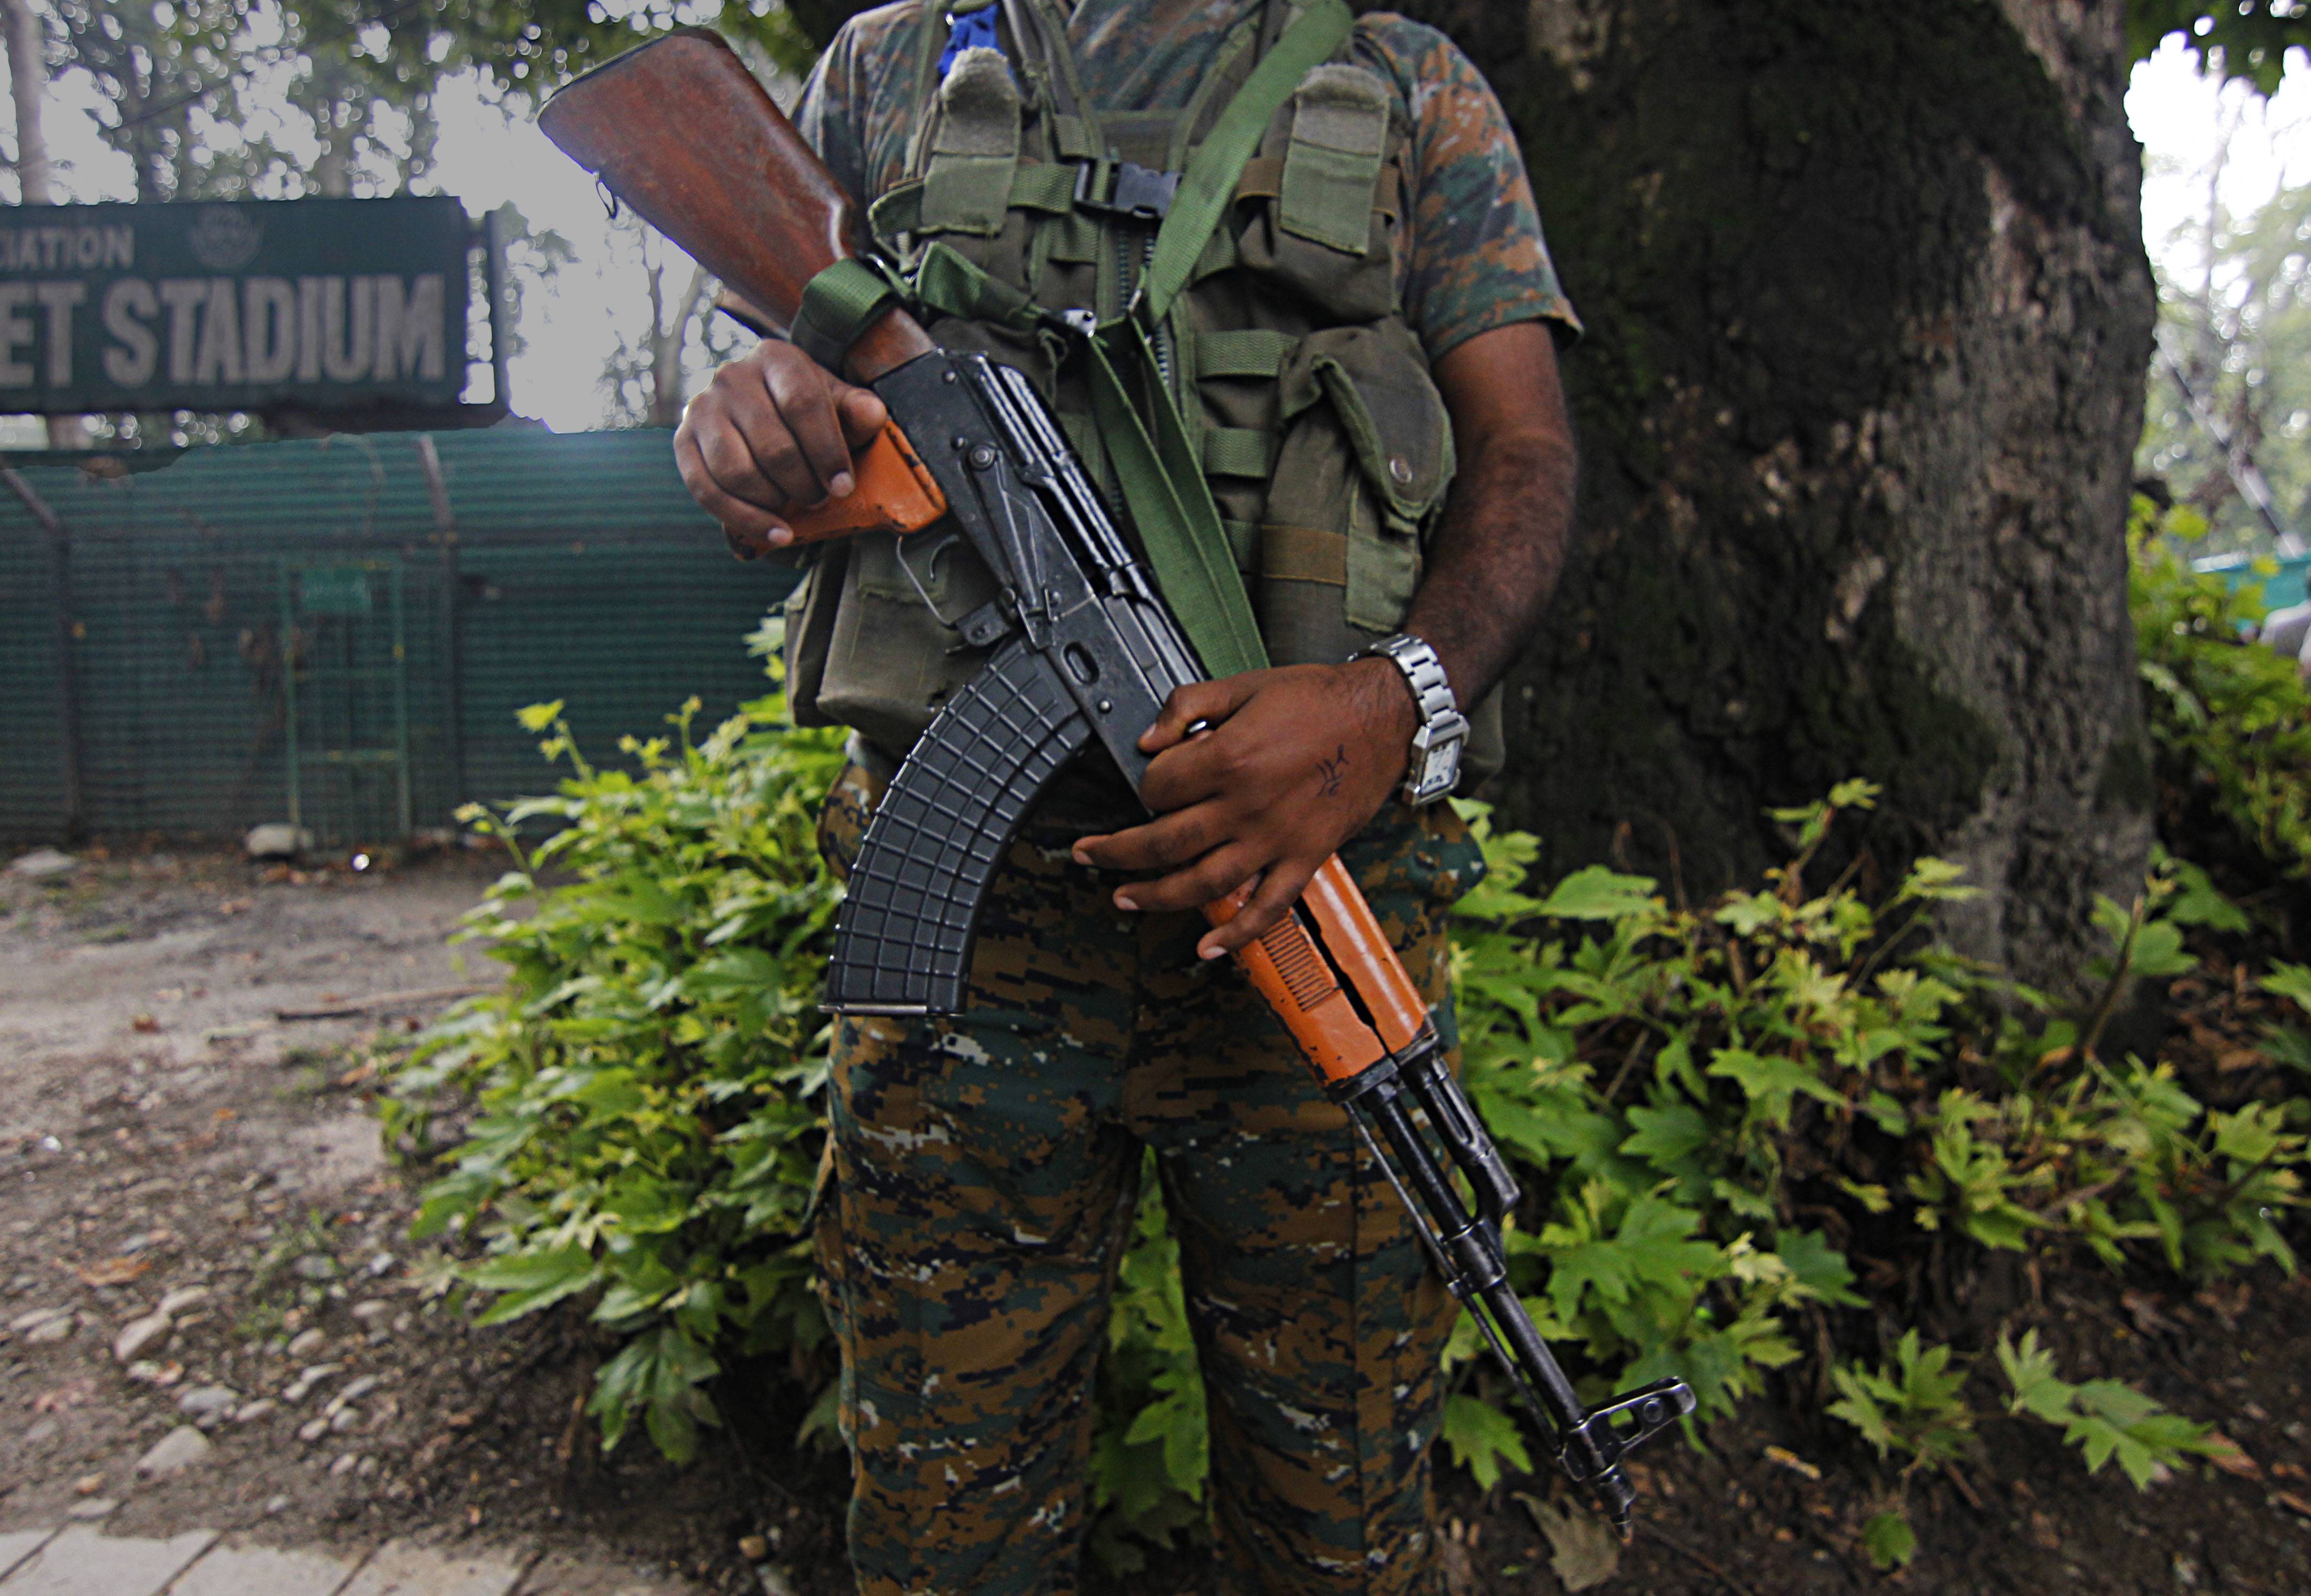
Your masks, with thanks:
M 582 1319 L 476 1330 L 407 1238 L 416 1173 L 379 1153 L 361 1060 L 490 977 L 446 935 L 497 868 L 146 850 L 0 873 L 0 1531 L 118 1501 L 118 1534 L 476 1536 L 721 1591 L 848 1589 L 844 1464 L 795 1453 L 804 1393 L 779 1370 L 723 1384 L 730 1423 L 696 1467 L 640 1444 L 603 1457 L 582 1402 L 605 1347 Z M 335 1019 L 284 1019 L 319 1012 Z M 1655 1444 L 1638 1538 L 1590 1589 L 2311 1591 L 2311 1284 L 2265 1270 L 2184 1298 L 2085 1266 L 2018 1275 L 2006 1319 L 2038 1326 L 2071 1379 L 2140 1381 L 2249 1462 L 2138 1494 L 2043 1425 L 1997 1420 L 1981 1462 L 1911 1485 L 1920 1552 L 1888 1582 L 1856 1541 L 1888 1476 L 1782 1393 L 1706 1450 Z M 196 1467 L 136 1481 L 194 1420 Z M 1565 1589 L 1532 1511 L 1560 1499 L 1444 1471 L 1454 1596 Z M 1190 1550 L 1086 1584 L 1174 1596 L 1213 1571 Z

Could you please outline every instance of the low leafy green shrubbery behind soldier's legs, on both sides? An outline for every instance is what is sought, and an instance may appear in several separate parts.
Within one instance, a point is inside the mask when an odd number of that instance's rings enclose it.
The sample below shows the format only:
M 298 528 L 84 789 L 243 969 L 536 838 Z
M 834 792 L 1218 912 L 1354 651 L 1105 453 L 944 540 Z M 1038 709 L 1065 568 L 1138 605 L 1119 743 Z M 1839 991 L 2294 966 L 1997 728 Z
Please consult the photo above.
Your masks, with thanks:
M 594 1393 L 605 1439 L 640 1418 L 675 1457 L 714 1420 L 726 1358 L 809 1353 L 825 1335 L 800 1238 L 834 905 L 811 820 L 841 758 L 830 737 L 776 730 L 776 700 L 700 741 L 691 714 L 633 744 L 640 771 L 622 774 L 578 758 L 555 704 L 527 711 L 571 774 L 557 797 L 476 818 L 515 850 L 469 926 L 511 982 L 425 1035 L 391 1109 L 416 1143 L 430 1111 L 469 1104 L 421 1226 L 478 1252 L 465 1280 L 485 1319 L 582 1298 L 622 1340 Z M 1872 797 L 1846 783 L 1784 811 L 1789 864 L 1701 908 L 1604 868 L 1528 894 L 1535 841 L 1472 808 L 1491 875 L 1458 908 L 1454 975 L 1470 1095 L 1528 1185 L 1511 1268 L 1544 1335 L 1590 1370 L 1583 1395 L 1678 1374 L 1703 1418 L 1722 1416 L 1823 1344 L 1874 1344 L 1879 1360 L 1816 1374 L 1837 1393 L 1826 1411 L 1902 1460 L 1863 1534 L 1893 1566 L 1914 1550 L 1911 1474 L 1971 1446 L 1976 1360 L 1916 1328 L 1879 1340 L 1856 1256 L 1900 1275 L 1937 1243 L 2075 1243 L 2195 1277 L 2293 1266 L 2272 1215 L 2302 1201 L 2311 1113 L 2209 1111 L 2172 1069 L 2101 1056 L 2115 993 L 2189 968 L 2184 926 L 2237 915 L 2202 873 L 2161 862 L 2140 903 L 2101 908 L 2110 998 L 2094 1014 L 2024 1021 L 2043 1000 L 1930 942 L 1930 910 L 1964 894 L 1953 866 L 1918 862 L 1883 903 L 1844 878 L 1807 885 L 1830 827 Z M 562 829 L 525 852 L 532 818 Z M 545 866 L 569 880 L 541 887 Z M 2311 998 L 2311 972 L 2269 984 Z M 1470 1323 L 1449 1360 L 1454 1457 L 1481 1485 L 1530 1469 Z M 2110 1381 L 2061 1381 L 2029 1337 L 1999 1365 L 2011 1407 L 2061 1425 L 2089 1464 L 2117 1455 L 2142 1478 L 2200 1448 L 2195 1425 Z M 825 1356 L 809 1367 L 830 1372 Z M 1199 1524 L 1206 1462 L 1153 1183 L 1100 1404 L 1093 1545 L 1132 1566 L 1142 1541 Z

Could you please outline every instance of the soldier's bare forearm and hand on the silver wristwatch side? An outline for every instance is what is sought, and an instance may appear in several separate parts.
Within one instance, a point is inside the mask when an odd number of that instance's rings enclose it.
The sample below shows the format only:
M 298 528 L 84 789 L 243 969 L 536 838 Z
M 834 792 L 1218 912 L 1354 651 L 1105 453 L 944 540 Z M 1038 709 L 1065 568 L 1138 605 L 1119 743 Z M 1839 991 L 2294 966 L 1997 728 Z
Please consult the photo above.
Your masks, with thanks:
M 1574 441 L 1555 344 L 1539 321 L 1479 333 L 1435 365 L 1461 476 L 1405 631 L 1435 647 L 1463 704 L 1507 672 L 1565 566 Z M 1199 737 L 1197 721 L 1213 728 Z M 1285 665 L 1172 695 L 1139 746 L 1139 792 L 1160 818 L 1077 843 L 1116 871 L 1167 871 L 1116 889 L 1128 910 L 1190 910 L 1259 875 L 1246 912 L 1197 945 L 1220 959 L 1266 931 L 1315 868 L 1405 778 L 1417 714 L 1389 661 Z

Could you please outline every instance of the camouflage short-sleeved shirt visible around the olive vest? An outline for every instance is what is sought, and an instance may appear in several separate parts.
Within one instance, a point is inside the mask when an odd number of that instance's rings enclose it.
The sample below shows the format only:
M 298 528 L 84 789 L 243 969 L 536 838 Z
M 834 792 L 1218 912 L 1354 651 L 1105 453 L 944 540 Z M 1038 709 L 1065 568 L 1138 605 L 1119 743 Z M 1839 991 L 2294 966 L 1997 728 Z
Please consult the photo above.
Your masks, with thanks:
M 1077 0 L 1068 14 L 1084 95 L 1105 111 L 1179 111 L 1257 0 Z M 867 206 L 906 178 L 922 5 L 853 16 L 811 72 L 795 125 Z M 1398 261 L 1405 321 L 1435 360 L 1514 321 L 1578 330 L 1541 243 L 1523 155 L 1474 62 L 1394 12 L 1357 21 L 1354 60 L 1389 83 L 1412 127 L 1412 247 Z

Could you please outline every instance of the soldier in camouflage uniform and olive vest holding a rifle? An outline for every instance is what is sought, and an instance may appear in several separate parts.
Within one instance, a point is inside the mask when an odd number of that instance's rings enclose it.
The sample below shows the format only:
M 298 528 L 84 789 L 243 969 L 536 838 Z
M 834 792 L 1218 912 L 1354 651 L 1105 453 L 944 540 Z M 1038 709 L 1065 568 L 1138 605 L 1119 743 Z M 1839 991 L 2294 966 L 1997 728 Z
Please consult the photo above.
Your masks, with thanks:
M 1327 5 L 899 0 L 837 35 L 797 111 L 887 256 L 941 252 L 917 277 L 931 335 L 1028 372 L 1095 480 L 1065 340 L 1001 307 L 1123 314 L 1192 150 L 1232 115 L 1264 127 L 1153 353 L 1276 668 L 1174 695 L 1142 741 L 1158 820 L 1102 755 L 1054 783 L 989 892 L 964 1014 L 837 1028 L 820 1266 L 876 1596 L 1075 1589 L 1144 1166 L 1204 1365 L 1220 1587 L 1440 1589 L 1428 1444 L 1454 1305 L 1343 1111 L 1216 961 L 1338 850 L 1451 1039 L 1442 917 L 1481 862 L 1449 804 L 1410 801 L 1451 785 L 1451 748 L 1407 781 L 1410 751 L 1458 698 L 1458 776 L 1498 767 L 1495 684 L 1571 524 L 1555 344 L 1576 321 L 1500 104 L 1442 35 L 1363 16 L 1290 97 L 1246 88 Z M 883 418 L 765 342 L 691 402 L 675 453 L 751 557 L 850 492 Z M 788 686 L 800 723 L 853 728 L 832 868 L 978 670 L 952 624 L 987 598 L 941 531 L 818 545 Z M 1250 908 L 1206 928 L 1197 908 L 1246 880 Z

